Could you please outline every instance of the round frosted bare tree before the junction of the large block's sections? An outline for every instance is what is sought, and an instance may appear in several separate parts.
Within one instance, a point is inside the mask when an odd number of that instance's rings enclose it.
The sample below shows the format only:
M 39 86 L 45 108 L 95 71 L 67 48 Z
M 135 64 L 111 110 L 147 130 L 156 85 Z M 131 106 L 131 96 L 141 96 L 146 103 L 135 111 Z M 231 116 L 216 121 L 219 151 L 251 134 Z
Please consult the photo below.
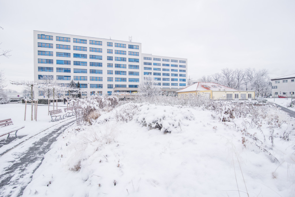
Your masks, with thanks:
M 143 97 L 153 97 L 162 93 L 161 88 L 157 86 L 158 82 L 153 75 L 146 75 L 139 84 L 138 91 Z

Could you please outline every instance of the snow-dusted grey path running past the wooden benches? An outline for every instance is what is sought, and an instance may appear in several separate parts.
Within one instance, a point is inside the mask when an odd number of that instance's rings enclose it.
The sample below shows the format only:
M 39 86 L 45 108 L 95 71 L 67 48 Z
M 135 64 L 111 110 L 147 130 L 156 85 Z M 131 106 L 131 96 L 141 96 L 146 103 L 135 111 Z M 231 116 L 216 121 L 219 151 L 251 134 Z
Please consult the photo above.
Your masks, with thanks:
M 24 189 L 32 180 L 33 173 L 41 165 L 44 155 L 50 150 L 51 144 L 75 121 L 61 123 L 48 131 L 45 136 L 40 133 L 41 138 L 35 136 L 28 139 L 0 157 L 9 163 L 0 174 L 1 197 L 22 196 Z M 7 140 L 2 143 L 7 143 Z

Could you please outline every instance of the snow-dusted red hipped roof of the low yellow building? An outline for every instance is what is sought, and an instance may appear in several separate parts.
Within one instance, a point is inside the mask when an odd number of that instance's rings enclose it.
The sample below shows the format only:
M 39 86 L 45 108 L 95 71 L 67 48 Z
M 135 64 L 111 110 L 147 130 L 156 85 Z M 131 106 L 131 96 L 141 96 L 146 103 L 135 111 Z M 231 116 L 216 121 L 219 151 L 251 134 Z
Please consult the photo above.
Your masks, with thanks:
M 213 82 L 197 82 L 191 86 L 183 88 L 177 92 L 192 92 L 192 91 L 205 91 L 205 90 L 213 90 L 213 91 L 237 91 L 233 88 L 229 88 L 226 86 L 222 86 Z

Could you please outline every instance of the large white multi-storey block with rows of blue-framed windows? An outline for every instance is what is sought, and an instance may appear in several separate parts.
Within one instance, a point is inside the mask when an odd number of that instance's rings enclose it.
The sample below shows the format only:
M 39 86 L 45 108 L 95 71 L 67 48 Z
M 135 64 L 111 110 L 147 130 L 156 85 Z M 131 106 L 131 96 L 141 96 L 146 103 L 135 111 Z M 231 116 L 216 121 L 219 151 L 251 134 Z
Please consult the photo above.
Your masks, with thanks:
M 34 80 L 79 81 L 83 96 L 137 91 L 152 74 L 163 90 L 184 88 L 187 59 L 141 52 L 141 43 L 34 31 Z M 35 98 L 44 92 L 35 90 Z

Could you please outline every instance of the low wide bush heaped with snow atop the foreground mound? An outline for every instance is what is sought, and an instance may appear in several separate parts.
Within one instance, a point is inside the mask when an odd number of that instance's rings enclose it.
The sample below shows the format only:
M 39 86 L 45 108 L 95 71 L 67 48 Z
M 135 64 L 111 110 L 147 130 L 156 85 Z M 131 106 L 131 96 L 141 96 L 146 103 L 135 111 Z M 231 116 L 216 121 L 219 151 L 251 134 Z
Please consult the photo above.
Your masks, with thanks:
M 136 121 L 149 129 L 159 129 L 164 134 L 179 133 L 186 120 L 194 120 L 189 109 L 179 109 L 171 106 L 144 105 L 139 108 Z

